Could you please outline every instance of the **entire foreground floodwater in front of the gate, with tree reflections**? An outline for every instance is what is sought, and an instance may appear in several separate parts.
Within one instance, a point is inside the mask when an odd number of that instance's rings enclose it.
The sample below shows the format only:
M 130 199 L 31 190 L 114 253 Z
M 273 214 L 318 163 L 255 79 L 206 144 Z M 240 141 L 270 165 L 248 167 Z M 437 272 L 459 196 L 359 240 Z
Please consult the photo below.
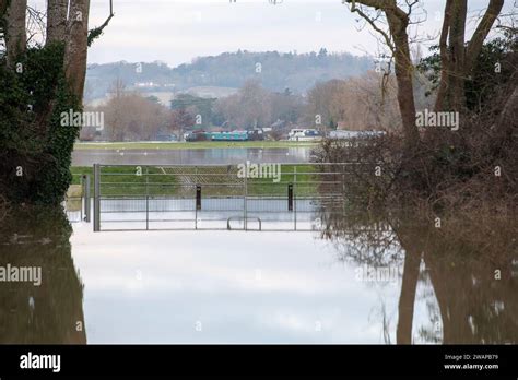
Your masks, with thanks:
M 40 268 L 42 283 L 0 278 L 0 343 L 518 342 L 514 234 L 484 245 L 415 216 L 321 221 L 93 233 L 12 211 L 0 268 Z

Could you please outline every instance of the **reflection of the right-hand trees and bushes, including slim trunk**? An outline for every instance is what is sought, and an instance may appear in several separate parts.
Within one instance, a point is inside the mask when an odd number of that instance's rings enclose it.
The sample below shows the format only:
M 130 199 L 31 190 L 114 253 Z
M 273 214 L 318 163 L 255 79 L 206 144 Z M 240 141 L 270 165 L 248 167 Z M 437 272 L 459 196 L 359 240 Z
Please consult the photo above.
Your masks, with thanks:
M 518 278 L 513 276 L 511 264 L 516 260 L 516 221 L 495 221 L 494 226 L 485 222 L 483 227 L 457 223 L 446 230 L 416 215 L 330 215 L 322 212 L 322 237 L 334 242 L 342 260 L 373 266 L 403 263 L 399 344 L 414 341 L 417 284 L 425 289 L 420 297 L 426 298 L 432 323 L 432 328 L 417 331 L 419 341 L 518 342 Z M 422 262 L 424 272 L 420 271 Z M 496 270 L 501 280 L 495 278 Z M 434 295 L 436 302 L 431 298 Z

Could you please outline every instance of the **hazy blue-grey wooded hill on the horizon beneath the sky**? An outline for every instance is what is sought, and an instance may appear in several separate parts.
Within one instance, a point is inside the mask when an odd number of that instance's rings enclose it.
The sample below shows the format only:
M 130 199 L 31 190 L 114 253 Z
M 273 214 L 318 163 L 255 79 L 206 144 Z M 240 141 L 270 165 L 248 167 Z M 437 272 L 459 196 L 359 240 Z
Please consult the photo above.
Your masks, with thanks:
M 251 52 L 239 50 L 213 57 L 200 57 L 191 63 L 169 68 L 162 62 L 130 63 L 126 61 L 90 64 L 86 72 L 86 100 L 102 98 L 109 83 L 120 79 L 132 87 L 136 83 L 153 83 L 153 91 L 185 91 L 196 86 L 242 87 L 250 79 L 275 92 L 289 87 L 305 93 L 317 82 L 357 76 L 372 69 L 369 57 L 351 54 Z

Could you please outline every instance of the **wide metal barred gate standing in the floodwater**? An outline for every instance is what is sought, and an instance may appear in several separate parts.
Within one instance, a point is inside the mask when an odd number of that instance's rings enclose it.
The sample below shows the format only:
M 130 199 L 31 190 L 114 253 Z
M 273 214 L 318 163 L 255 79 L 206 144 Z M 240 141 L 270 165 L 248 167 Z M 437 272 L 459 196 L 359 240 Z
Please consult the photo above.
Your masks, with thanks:
M 319 229 L 350 164 L 94 165 L 94 230 Z

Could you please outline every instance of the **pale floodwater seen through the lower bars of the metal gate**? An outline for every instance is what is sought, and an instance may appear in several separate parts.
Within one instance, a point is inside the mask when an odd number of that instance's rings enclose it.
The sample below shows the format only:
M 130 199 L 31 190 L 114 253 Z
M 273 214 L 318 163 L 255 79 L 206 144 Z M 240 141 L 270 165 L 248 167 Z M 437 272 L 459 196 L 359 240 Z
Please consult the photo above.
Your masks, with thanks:
M 164 229 L 246 229 L 250 230 L 315 230 L 321 218 L 315 199 L 296 199 L 289 211 L 287 199 L 247 198 L 246 216 L 243 197 L 212 197 L 201 200 L 196 210 L 195 199 L 103 199 L 99 229 L 164 230 Z M 69 217 L 81 221 L 81 211 Z

